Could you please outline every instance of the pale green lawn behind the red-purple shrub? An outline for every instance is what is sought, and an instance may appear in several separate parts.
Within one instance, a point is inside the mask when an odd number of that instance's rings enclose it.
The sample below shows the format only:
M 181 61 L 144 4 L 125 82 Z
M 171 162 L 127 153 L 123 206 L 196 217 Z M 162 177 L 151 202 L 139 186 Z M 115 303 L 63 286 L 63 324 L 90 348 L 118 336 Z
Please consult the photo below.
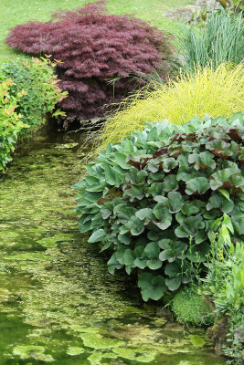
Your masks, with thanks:
M 5 46 L 9 28 L 28 20 L 48 21 L 58 9 L 73 9 L 82 6 L 84 0 L 0 0 L 0 61 L 16 55 Z M 109 0 L 111 14 L 134 14 L 161 29 L 175 32 L 177 24 L 163 14 L 172 7 L 194 4 L 194 0 Z M 170 4 L 170 5 L 169 5 Z

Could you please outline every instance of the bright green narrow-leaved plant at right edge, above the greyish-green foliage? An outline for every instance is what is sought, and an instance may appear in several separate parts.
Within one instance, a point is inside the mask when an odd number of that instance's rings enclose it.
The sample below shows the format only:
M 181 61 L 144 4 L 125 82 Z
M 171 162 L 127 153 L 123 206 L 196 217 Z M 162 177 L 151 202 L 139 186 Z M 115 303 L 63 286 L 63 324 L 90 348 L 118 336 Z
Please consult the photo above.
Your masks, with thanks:
M 207 276 L 202 279 L 204 294 L 214 297 L 217 311 L 231 316 L 244 310 L 244 245 L 231 239 L 233 224 L 228 214 L 213 224 Z

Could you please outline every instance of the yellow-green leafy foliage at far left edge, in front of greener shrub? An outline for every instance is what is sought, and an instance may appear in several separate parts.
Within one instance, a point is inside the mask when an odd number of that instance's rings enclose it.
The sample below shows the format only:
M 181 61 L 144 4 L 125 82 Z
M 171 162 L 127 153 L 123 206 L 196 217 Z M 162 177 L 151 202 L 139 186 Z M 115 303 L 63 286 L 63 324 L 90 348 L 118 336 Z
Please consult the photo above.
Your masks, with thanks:
M 0 75 L 0 171 L 12 160 L 11 151 L 15 150 L 17 133 L 27 127 L 16 113 L 16 103 L 22 93 L 17 93 L 16 98 L 11 96 L 12 86 L 12 80 L 5 80 Z

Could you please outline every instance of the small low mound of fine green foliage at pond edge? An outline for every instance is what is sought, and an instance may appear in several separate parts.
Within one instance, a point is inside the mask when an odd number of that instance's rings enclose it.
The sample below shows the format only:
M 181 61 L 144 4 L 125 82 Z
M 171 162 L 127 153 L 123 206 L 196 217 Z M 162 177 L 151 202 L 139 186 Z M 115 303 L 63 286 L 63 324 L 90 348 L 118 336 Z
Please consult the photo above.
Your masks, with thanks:
M 176 293 L 172 301 L 172 310 L 177 322 L 185 325 L 210 326 L 215 320 L 207 302 L 197 294 L 196 286 L 184 287 Z

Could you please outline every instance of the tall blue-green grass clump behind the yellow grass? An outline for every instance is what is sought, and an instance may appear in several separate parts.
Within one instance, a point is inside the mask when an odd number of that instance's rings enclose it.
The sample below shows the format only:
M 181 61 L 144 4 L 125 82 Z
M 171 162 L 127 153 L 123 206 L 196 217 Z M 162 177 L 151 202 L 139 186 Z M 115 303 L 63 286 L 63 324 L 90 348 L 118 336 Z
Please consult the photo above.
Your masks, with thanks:
M 204 29 L 186 28 L 179 43 L 184 54 L 183 68 L 217 68 L 223 62 L 239 64 L 244 59 L 243 19 L 224 9 L 209 16 Z

